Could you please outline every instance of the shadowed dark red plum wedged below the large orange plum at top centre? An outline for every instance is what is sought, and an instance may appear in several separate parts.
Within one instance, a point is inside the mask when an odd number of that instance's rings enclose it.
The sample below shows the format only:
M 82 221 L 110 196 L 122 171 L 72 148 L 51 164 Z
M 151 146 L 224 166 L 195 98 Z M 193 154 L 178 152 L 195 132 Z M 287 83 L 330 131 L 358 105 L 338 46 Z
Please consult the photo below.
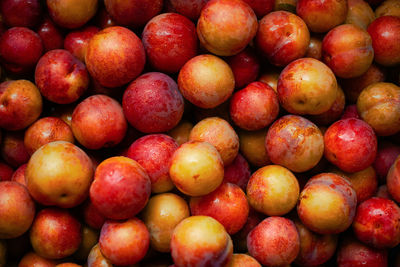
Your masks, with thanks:
M 235 88 L 241 89 L 257 79 L 261 62 L 254 49 L 249 46 L 240 53 L 228 57 L 226 62 L 235 77 Z

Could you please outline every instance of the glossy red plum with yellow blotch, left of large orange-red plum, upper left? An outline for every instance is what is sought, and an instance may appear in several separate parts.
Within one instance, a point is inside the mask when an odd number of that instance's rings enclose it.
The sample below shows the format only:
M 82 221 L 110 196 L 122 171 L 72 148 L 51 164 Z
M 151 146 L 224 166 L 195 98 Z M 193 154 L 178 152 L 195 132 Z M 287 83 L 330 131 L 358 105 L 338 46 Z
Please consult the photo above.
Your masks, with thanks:
M 69 104 L 89 87 L 85 65 L 64 49 L 44 54 L 35 70 L 35 82 L 41 94 L 57 104 Z

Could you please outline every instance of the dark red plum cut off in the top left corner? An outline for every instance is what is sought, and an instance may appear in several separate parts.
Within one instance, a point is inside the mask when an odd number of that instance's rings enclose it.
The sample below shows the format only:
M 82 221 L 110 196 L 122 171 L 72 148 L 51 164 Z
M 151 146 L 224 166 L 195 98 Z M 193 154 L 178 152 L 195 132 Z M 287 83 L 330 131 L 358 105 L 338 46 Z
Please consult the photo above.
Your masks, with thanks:
M 4 22 L 9 27 L 35 27 L 42 15 L 39 0 L 4 0 L 0 4 Z

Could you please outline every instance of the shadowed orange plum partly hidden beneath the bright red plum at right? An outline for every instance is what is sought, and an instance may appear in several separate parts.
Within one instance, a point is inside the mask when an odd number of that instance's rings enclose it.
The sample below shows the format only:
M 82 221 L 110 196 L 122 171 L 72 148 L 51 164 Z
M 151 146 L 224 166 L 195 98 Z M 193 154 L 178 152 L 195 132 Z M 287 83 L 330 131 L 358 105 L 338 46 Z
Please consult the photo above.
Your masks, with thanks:
M 352 187 L 356 191 L 357 203 L 361 203 L 373 197 L 378 189 L 378 179 L 372 166 L 353 173 L 346 173 L 339 169 L 334 169 L 332 172 L 350 181 Z

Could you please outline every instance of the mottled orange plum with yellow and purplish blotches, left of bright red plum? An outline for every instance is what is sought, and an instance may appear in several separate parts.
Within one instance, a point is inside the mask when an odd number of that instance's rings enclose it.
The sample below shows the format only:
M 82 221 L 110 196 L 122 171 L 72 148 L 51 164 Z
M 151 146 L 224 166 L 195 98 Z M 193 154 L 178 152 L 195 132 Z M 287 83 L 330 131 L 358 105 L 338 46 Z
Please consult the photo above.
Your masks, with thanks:
M 320 129 L 297 115 L 286 115 L 268 129 L 265 148 L 270 160 L 294 172 L 315 167 L 324 153 Z

